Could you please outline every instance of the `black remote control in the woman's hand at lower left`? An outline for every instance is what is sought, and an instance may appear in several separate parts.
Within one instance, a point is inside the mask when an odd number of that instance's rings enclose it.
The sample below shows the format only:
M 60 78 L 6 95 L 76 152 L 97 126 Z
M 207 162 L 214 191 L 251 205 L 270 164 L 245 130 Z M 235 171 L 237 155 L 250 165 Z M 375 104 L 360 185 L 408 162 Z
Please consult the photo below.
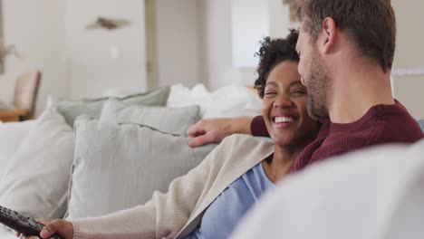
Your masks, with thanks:
M 43 224 L 35 222 L 31 217 L 25 217 L 15 211 L 0 206 L 0 223 L 7 225 L 24 235 L 35 235 L 40 236 L 40 232 L 43 229 Z M 58 234 L 53 234 L 51 237 L 54 239 L 63 239 Z

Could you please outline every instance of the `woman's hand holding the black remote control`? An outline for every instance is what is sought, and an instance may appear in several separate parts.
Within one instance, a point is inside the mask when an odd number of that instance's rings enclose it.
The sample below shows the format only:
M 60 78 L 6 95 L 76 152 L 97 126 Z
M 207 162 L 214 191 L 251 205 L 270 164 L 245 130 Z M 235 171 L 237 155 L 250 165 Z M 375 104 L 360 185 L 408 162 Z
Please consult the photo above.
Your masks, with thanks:
M 46 239 L 50 238 L 52 234 L 59 234 L 63 237 L 63 239 L 72 239 L 73 237 L 73 225 L 71 222 L 62 219 L 35 219 L 35 221 L 45 225 L 40 233 L 40 236 L 25 236 L 25 239 Z M 16 236 L 21 236 L 21 233 L 16 232 Z

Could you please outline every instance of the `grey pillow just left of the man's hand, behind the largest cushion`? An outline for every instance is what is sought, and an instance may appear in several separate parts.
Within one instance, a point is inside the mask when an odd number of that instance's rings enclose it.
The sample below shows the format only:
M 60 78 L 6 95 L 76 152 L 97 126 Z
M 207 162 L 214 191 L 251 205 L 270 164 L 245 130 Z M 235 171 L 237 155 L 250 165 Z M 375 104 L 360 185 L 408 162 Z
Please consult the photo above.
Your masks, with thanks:
M 115 123 L 137 123 L 162 132 L 187 135 L 187 130 L 198 121 L 200 107 L 182 108 L 128 105 L 118 99 L 107 100 L 101 110 L 101 120 Z

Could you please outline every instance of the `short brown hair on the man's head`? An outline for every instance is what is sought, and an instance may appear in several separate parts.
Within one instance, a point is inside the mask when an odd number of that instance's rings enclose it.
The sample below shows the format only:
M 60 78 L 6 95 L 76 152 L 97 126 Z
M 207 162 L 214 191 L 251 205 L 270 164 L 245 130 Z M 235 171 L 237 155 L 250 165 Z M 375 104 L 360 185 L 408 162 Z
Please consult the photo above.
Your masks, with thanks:
M 300 0 L 299 16 L 313 43 L 323 20 L 332 17 L 361 53 L 391 69 L 396 45 L 396 18 L 390 0 Z

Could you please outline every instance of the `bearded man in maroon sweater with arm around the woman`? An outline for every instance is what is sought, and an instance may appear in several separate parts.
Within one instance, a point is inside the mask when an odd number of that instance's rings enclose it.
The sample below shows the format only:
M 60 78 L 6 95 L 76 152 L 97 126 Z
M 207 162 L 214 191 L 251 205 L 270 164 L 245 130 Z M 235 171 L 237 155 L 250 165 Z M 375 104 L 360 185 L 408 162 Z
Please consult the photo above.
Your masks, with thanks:
M 391 94 L 396 21 L 390 1 L 304 0 L 301 5 L 298 70 L 308 88 L 309 113 L 323 120 L 323 127 L 296 158 L 293 171 L 358 148 L 421 139 L 419 125 Z M 266 135 L 261 117 L 208 119 L 188 130 L 196 137 L 189 145 L 236 132 Z

